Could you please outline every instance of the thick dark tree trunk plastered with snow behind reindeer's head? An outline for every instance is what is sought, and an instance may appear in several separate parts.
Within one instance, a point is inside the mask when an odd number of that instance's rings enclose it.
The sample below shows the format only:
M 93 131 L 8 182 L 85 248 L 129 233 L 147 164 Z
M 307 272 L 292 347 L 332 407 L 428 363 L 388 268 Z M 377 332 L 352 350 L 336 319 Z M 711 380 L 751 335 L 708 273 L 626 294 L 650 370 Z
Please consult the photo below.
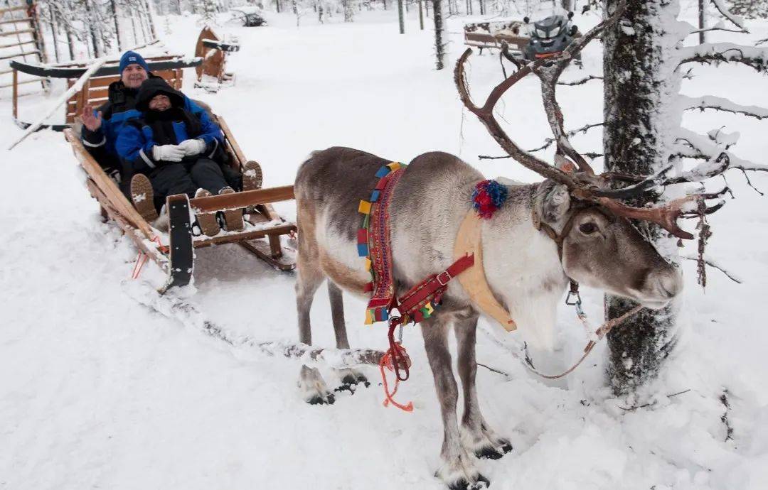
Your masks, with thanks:
M 614 12 L 618 0 L 604 0 L 604 12 Z M 669 164 L 670 148 L 680 128 L 682 112 L 675 99 L 681 77 L 677 14 L 679 0 L 628 0 L 616 27 L 604 33 L 605 167 L 651 175 Z M 651 201 L 664 202 L 664 195 Z M 642 202 L 631 202 L 642 205 Z M 667 260 L 677 262 L 677 246 L 664 230 L 637 224 Z M 634 307 L 626 299 L 607 295 L 607 318 Z M 608 334 L 607 373 L 614 393 L 631 393 L 654 379 L 677 343 L 676 311 L 644 309 Z

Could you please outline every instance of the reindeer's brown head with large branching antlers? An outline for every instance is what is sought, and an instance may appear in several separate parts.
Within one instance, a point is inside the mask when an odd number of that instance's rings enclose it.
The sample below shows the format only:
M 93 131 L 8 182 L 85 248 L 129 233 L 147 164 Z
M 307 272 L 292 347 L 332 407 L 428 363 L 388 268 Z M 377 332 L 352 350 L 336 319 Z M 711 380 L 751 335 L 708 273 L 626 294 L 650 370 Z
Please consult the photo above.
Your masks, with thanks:
M 696 210 L 712 212 L 719 209 L 722 203 L 706 209 L 703 199 L 717 197 L 727 189 L 713 195 L 686 196 L 660 207 L 631 207 L 618 199 L 639 198 L 645 192 L 662 186 L 708 178 L 722 173 L 729 162 L 723 154 L 713 162 L 716 163 L 714 165 L 708 163 L 706 168 L 694 169 L 687 175 L 674 178 L 667 178 L 669 168 L 648 178 L 616 173 L 596 175 L 584 157 L 571 146 L 554 96 L 558 78 L 584 45 L 618 21 L 624 8 L 626 2 L 621 2 L 610 18 L 575 40 L 557 57 L 543 58 L 518 67 L 518 71 L 491 91 L 482 107 L 476 106 L 469 97 L 464 76 L 464 64 L 472 53 L 471 49 L 467 49 L 458 59 L 454 77 L 462 102 L 485 124 L 496 142 L 523 166 L 548 179 L 538 186 L 535 193 L 532 203 L 534 223 L 537 227 L 543 226 L 558 244 L 566 275 L 574 281 L 634 299 L 645 306 L 662 307 L 680 292 L 680 274 L 659 255 L 629 219 L 653 222 L 677 238 L 694 238 L 680 229 L 677 219 Z M 521 150 L 493 115 L 495 104 L 502 94 L 531 73 L 541 79 L 542 100 L 557 143 L 557 157 L 567 162 L 570 168 L 551 166 Z M 620 182 L 624 182 L 623 187 Z M 626 186 L 626 183 L 631 185 Z

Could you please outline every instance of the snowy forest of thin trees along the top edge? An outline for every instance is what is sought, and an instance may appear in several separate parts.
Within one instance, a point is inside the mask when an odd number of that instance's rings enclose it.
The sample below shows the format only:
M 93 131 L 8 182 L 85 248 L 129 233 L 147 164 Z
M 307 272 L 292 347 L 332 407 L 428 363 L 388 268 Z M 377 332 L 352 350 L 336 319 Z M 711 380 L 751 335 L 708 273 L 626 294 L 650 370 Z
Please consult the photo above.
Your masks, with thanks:
M 574 12 L 599 10 L 598 0 L 445 0 L 437 2 L 447 17 L 458 15 L 484 15 L 522 18 L 536 12 L 541 5 L 558 5 Z M 768 2 L 763 0 L 730 0 L 730 12 L 748 19 L 768 18 Z M 223 12 L 237 7 L 258 8 L 264 11 L 292 12 L 296 24 L 303 17 L 316 18 L 319 23 L 355 21 L 356 14 L 375 10 L 410 10 L 423 16 L 434 12 L 434 0 L 41 0 L 38 2 L 43 30 L 53 40 L 49 56 L 51 61 L 71 61 L 117 53 L 123 48 L 146 44 L 157 38 L 151 12 L 156 15 L 197 15 L 204 25 L 218 25 Z M 714 8 L 709 0 L 698 2 L 700 12 Z M 434 17 L 434 15 L 432 14 Z M 706 16 L 706 14 L 705 14 Z M 232 17 L 232 16 L 230 16 Z M 234 15 L 233 17 L 237 17 Z M 401 15 L 402 17 L 402 15 Z M 170 25 L 163 21 L 159 28 L 169 34 Z

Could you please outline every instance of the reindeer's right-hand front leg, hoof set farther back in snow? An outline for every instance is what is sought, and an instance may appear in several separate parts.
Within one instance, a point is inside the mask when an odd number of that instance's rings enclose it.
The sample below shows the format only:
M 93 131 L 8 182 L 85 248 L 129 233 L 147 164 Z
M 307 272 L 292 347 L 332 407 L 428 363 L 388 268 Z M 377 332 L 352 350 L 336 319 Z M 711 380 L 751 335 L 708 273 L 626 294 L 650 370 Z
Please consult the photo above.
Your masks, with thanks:
M 475 453 L 478 458 L 499 459 L 512 450 L 508 439 L 499 437 L 480 413 L 478 403 L 477 360 L 475 344 L 478 316 L 472 315 L 455 322 L 456 343 L 458 344 L 458 377 L 464 390 L 464 416 L 462 416 L 462 445 Z

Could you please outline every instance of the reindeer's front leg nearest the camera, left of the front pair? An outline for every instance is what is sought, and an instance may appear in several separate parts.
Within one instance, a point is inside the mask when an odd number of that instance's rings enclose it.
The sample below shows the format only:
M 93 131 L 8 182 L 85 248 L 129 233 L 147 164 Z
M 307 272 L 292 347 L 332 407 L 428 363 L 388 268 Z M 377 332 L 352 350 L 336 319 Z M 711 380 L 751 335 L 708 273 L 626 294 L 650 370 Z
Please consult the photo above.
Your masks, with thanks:
M 451 316 L 442 315 L 422 321 L 424 347 L 429 367 L 435 377 L 435 390 L 442 414 L 443 441 L 440 459 L 442 464 L 435 476 L 442 479 L 451 490 L 486 488 L 490 483 L 475 468 L 475 462 L 462 446 L 456 419 L 458 387 L 451 369 L 451 353 L 448 350 L 448 329 Z

